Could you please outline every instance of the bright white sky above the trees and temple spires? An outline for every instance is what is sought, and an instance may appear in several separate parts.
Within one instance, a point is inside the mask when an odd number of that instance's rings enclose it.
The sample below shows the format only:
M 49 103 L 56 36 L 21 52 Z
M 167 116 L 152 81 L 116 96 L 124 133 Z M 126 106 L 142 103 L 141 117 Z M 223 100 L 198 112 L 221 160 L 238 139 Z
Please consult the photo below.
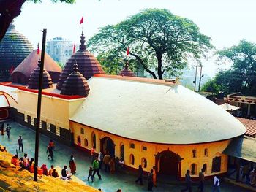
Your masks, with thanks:
M 147 8 L 169 9 L 175 15 L 192 20 L 200 32 L 211 37 L 217 50 L 237 45 L 241 39 L 256 43 L 254 0 L 76 0 L 75 4 L 50 0 L 23 4 L 15 18 L 16 29 L 25 35 L 33 47 L 42 44 L 43 28 L 47 39 L 63 37 L 79 45 L 82 27 L 86 40 L 100 27 L 116 24 Z M 84 16 L 84 22 L 79 24 Z M 216 57 L 203 60 L 203 72 L 214 76 Z

